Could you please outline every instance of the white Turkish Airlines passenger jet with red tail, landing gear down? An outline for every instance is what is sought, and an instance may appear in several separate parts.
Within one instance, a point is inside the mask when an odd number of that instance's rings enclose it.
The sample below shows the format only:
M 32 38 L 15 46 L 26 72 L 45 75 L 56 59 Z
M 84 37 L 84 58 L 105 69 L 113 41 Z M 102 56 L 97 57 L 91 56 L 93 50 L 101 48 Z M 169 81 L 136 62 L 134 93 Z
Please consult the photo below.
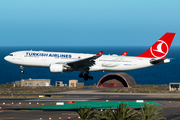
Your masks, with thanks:
M 23 66 L 45 67 L 50 72 L 61 73 L 80 71 L 79 77 L 87 81 L 93 80 L 93 76 L 89 74 L 91 71 L 130 71 L 170 62 L 166 55 L 174 36 L 175 33 L 165 33 L 147 51 L 137 56 L 103 55 L 103 51 L 94 55 L 30 50 L 12 52 L 4 59 L 20 65 L 21 73 L 24 73 Z

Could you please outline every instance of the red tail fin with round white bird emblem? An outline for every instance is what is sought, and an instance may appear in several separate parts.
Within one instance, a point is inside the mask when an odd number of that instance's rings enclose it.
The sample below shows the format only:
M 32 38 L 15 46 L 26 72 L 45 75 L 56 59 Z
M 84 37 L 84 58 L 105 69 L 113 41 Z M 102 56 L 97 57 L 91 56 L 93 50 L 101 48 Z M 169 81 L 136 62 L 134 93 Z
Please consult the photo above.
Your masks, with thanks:
M 166 58 L 171 43 L 176 33 L 164 34 L 156 43 L 154 43 L 146 52 L 136 57 L 147 58 Z

